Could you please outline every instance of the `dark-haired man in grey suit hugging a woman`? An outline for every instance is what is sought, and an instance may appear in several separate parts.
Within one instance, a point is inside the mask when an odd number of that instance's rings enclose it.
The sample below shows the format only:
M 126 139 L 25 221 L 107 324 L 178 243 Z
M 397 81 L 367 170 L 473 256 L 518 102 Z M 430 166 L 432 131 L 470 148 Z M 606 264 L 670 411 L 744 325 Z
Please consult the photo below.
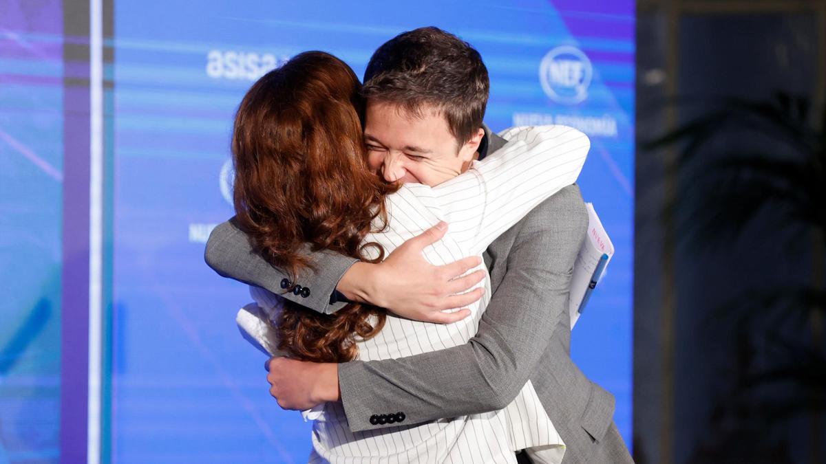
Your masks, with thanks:
M 505 140 L 482 125 L 489 81 L 470 45 L 436 28 L 396 36 L 370 59 L 364 76 L 365 141 L 370 167 L 392 182 L 437 185 L 492 153 Z M 632 462 L 611 417 L 614 399 L 570 357 L 568 292 L 587 214 L 576 186 L 544 201 L 491 244 L 485 262 L 493 297 L 477 335 L 463 346 L 378 362 L 268 362 L 271 392 L 287 409 L 341 400 L 353 431 L 418 424 L 504 408 L 531 381 L 566 443 L 563 462 Z M 261 286 L 332 313 L 346 300 L 386 307 L 416 320 L 449 323 L 443 313 L 481 294 L 457 293 L 481 276 L 458 277 L 473 258 L 436 268 L 421 249 L 434 228 L 384 262 L 360 263 L 311 252 L 313 272 L 296 282 L 252 253 L 232 220 L 207 243 L 207 263 L 222 276 Z M 292 288 L 284 293 L 283 289 Z M 524 457 L 523 457 L 524 459 Z

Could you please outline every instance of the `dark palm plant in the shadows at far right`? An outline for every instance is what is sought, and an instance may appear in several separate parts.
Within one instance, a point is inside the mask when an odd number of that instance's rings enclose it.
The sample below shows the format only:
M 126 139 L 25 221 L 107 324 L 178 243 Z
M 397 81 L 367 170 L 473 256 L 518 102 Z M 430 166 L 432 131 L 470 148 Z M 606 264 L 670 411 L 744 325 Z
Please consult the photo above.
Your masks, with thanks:
M 826 462 L 826 113 L 782 92 L 704 103 L 642 144 L 676 149 L 672 168 L 690 186 L 666 207 L 683 244 L 714 253 L 765 237 L 805 250 L 796 256 L 809 278 L 749 288 L 711 311 L 709 336 L 733 353 L 690 461 Z

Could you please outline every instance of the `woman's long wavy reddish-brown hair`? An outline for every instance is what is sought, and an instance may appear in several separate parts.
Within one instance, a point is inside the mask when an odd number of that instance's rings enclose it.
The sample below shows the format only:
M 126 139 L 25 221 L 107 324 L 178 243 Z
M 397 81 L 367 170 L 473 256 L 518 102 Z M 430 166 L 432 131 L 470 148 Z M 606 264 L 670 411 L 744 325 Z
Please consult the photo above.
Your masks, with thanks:
M 254 83 L 235 116 L 237 224 L 292 282 L 313 266 L 306 244 L 363 259 L 373 220 L 387 223 L 384 197 L 396 187 L 365 161 L 360 88 L 340 59 L 305 52 Z M 385 317 L 368 305 L 322 315 L 285 300 L 278 348 L 306 361 L 350 361 L 356 336 L 373 337 Z

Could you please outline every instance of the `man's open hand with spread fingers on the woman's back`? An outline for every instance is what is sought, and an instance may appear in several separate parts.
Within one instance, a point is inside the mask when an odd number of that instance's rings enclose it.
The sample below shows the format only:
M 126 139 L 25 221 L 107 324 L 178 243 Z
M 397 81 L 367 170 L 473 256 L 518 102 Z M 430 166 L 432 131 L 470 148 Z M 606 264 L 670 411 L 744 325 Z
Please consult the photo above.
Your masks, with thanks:
M 422 250 L 444 237 L 447 230 L 448 225 L 439 222 L 401 244 L 382 263 L 355 263 L 336 288 L 350 301 L 382 306 L 408 319 L 441 324 L 463 320 L 470 315 L 467 308 L 443 311 L 463 308 L 482 298 L 483 288 L 468 289 L 482 282 L 485 272 L 480 269 L 463 276 L 482 263 L 477 256 L 444 266 L 425 260 Z

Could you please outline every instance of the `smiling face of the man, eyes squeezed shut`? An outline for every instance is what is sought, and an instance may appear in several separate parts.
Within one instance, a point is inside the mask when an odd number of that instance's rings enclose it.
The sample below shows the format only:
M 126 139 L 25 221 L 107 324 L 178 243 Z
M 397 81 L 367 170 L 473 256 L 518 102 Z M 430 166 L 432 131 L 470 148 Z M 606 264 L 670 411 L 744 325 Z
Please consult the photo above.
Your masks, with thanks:
M 388 182 L 416 182 L 435 186 L 468 169 L 484 131 L 462 146 L 450 133 L 448 121 L 425 109 L 412 116 L 393 103 L 367 104 L 364 141 L 368 165 Z

